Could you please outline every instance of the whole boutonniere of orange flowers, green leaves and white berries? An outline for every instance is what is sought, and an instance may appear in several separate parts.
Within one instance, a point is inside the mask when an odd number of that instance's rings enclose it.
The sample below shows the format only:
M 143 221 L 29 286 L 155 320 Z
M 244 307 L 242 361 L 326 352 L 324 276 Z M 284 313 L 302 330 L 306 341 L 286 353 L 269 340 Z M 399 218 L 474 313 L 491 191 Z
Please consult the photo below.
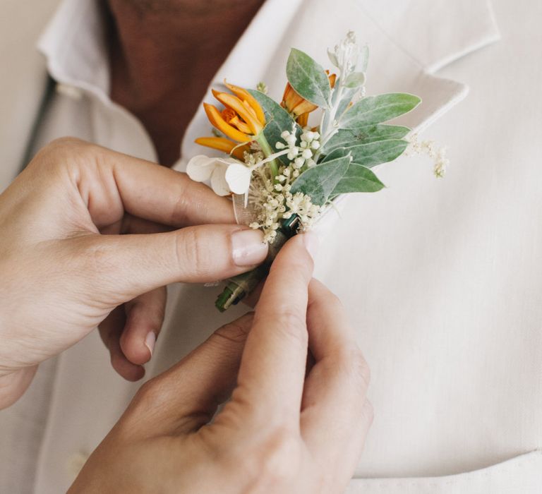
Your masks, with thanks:
M 267 96 L 263 83 L 251 90 L 224 81 L 227 91 L 212 90 L 222 109 L 204 104 L 215 135 L 195 142 L 225 156 L 195 156 L 186 172 L 231 195 L 238 222 L 261 229 L 270 245 L 265 265 L 229 280 L 217 299 L 220 311 L 253 290 L 287 239 L 311 229 L 336 198 L 380 191 L 377 165 L 405 151 L 426 152 L 435 159 L 435 175 L 444 174 L 444 150 L 419 143 L 408 127 L 386 123 L 416 108 L 420 98 L 366 95 L 368 48 L 359 47 L 353 32 L 328 56 L 333 71 L 292 49 L 281 102 Z

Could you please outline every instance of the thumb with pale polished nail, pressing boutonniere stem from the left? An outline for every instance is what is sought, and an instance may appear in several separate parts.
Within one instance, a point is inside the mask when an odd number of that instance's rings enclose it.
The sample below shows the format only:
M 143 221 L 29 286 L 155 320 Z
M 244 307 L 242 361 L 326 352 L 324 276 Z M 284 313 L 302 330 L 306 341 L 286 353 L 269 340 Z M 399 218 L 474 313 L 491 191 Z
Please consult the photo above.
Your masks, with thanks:
M 253 269 L 267 256 L 262 232 L 239 225 L 71 240 L 83 263 L 81 272 L 106 304 L 119 304 L 170 283 L 226 279 Z

